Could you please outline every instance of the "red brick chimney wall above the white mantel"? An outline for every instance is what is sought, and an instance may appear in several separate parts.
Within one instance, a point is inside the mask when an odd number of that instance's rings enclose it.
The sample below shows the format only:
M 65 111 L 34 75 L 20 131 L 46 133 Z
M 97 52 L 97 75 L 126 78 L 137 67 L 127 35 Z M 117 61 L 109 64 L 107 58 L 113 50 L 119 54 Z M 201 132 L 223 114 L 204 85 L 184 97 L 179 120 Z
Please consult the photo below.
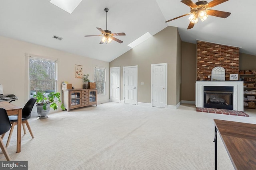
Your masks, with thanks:
M 225 69 L 226 80 L 229 80 L 229 74 L 238 74 L 239 48 L 197 41 L 197 75 L 211 76 L 212 68 L 216 66 Z

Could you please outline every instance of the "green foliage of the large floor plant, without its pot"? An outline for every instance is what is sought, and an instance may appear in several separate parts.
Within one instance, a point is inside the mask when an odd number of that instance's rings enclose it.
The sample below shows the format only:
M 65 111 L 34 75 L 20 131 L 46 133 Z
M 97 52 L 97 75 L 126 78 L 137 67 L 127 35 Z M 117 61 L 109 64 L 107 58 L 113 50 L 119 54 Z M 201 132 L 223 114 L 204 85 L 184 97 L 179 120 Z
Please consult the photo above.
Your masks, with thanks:
M 50 104 L 50 108 L 53 108 L 54 110 L 57 109 L 58 105 L 57 103 L 61 104 L 60 102 L 60 93 L 51 92 L 46 96 L 45 92 L 38 91 L 36 94 L 34 94 L 34 98 L 36 98 L 36 104 L 37 105 L 43 105 L 43 109 L 46 110 L 46 105 Z M 61 104 L 61 109 L 65 110 L 65 107 L 63 104 Z

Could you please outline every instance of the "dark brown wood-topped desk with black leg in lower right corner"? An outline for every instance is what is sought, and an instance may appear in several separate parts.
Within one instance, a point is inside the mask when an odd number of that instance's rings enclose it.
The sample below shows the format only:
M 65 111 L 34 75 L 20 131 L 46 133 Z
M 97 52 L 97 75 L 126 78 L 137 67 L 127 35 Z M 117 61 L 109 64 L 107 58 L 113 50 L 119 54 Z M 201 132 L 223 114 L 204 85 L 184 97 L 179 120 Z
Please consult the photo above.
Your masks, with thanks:
M 236 170 L 256 170 L 256 124 L 214 119 L 215 169 L 217 131 Z

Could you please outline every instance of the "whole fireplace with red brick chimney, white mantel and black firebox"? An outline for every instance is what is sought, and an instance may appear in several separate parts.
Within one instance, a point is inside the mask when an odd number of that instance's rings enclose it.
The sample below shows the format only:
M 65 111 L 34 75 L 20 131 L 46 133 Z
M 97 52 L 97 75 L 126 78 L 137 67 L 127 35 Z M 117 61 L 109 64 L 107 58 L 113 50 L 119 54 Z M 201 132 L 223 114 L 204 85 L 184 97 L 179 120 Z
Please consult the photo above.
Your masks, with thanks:
M 225 69 L 225 80 L 226 81 L 197 81 L 196 82 L 196 107 L 210 107 L 224 109 L 224 105 L 235 111 L 243 111 L 243 82 L 240 81 L 228 81 L 230 74 L 238 74 L 239 72 L 239 48 L 231 47 L 228 45 L 214 44 L 204 41 L 197 41 L 197 75 L 203 74 L 204 77 L 211 76 L 212 69 L 216 66 L 221 66 Z M 197 80 L 199 78 L 197 77 Z M 206 90 L 208 94 L 204 91 L 204 88 L 211 87 Z M 232 93 L 221 92 L 222 88 L 229 87 L 232 88 Z M 216 92 L 218 91 L 218 92 Z M 215 93 L 212 97 L 212 93 Z M 218 94 L 218 97 L 216 97 Z M 224 95 L 228 94 L 228 95 Z M 207 100 L 212 100 L 214 102 L 206 102 Z M 223 96 L 229 96 L 227 97 Z M 217 99 L 217 100 L 216 100 Z M 221 103 L 222 100 L 224 102 Z M 216 101 L 220 104 L 216 104 Z M 214 107 L 211 107 L 214 105 Z M 232 105 L 232 106 L 231 106 Z M 221 106 L 221 107 L 219 107 Z

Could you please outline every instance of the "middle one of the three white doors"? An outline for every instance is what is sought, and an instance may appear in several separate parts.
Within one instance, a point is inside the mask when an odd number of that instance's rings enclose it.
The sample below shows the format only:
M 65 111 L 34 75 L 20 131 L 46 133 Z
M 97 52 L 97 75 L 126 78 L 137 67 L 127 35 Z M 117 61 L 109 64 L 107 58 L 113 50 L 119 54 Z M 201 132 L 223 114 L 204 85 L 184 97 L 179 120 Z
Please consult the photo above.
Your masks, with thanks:
M 123 67 L 124 103 L 137 104 L 137 70 L 138 66 Z

